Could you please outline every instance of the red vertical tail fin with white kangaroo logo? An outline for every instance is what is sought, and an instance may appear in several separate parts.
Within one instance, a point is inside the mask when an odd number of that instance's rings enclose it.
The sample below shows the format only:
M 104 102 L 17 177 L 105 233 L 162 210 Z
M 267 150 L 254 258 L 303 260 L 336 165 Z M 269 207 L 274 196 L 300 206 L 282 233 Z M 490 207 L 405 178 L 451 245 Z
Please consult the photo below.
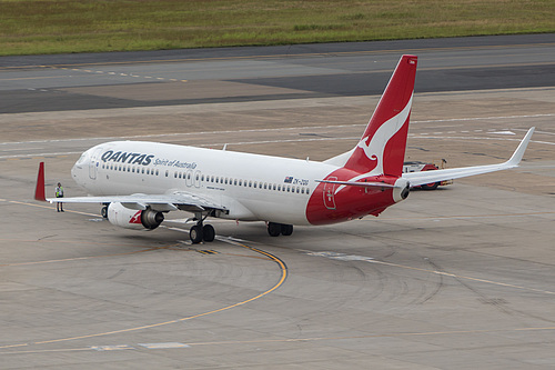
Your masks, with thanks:
M 361 173 L 401 176 L 411 117 L 415 56 L 403 56 L 345 168 Z

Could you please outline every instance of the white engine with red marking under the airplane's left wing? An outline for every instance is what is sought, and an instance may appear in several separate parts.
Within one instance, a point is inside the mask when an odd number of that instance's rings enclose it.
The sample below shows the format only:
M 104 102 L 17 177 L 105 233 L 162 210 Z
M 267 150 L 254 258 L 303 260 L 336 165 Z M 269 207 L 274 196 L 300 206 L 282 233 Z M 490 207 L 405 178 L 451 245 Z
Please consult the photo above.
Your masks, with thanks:
M 108 220 L 111 224 L 125 229 L 148 229 L 153 230 L 162 223 L 164 214 L 150 208 L 145 210 L 134 210 L 123 207 L 121 203 L 110 203 L 108 206 Z

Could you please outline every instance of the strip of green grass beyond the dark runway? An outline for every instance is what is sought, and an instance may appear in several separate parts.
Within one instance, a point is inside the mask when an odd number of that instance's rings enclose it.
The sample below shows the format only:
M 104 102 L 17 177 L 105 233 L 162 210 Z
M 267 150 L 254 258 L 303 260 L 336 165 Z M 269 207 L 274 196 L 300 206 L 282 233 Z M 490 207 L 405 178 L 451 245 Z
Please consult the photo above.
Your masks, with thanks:
M 555 32 L 555 0 L 0 0 L 0 56 Z

